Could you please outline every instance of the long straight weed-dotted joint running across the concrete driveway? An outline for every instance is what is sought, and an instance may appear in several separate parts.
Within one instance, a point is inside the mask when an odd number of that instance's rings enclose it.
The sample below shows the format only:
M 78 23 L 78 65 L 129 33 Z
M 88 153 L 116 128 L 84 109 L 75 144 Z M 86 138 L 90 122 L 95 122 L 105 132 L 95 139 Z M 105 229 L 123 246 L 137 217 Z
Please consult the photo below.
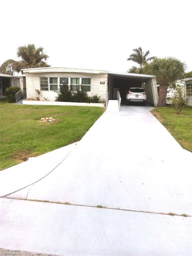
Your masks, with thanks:
M 0 197 L 0 198 L 3 198 L 3 197 Z M 109 210 L 119 210 L 119 211 L 128 211 L 128 212 L 153 213 L 153 214 L 161 214 L 161 215 L 169 215 L 169 216 L 192 217 L 191 215 L 188 215 L 188 214 L 176 214 L 176 213 L 173 214 L 171 212 L 170 213 L 151 212 L 151 211 L 123 209 L 123 208 L 120 209 L 120 208 L 107 207 L 107 206 L 98 207 L 98 206 L 95 206 L 95 205 L 71 204 L 69 202 L 49 201 L 49 200 L 40 200 L 40 199 L 24 199 L 24 198 L 12 198 L 12 197 L 8 197 L 6 199 L 24 200 L 24 201 L 33 201 L 33 202 L 51 203 L 51 204 L 65 204 L 65 205 L 72 205 L 72 206 L 93 207 L 93 208 L 101 208 L 101 209 L 109 209 Z

